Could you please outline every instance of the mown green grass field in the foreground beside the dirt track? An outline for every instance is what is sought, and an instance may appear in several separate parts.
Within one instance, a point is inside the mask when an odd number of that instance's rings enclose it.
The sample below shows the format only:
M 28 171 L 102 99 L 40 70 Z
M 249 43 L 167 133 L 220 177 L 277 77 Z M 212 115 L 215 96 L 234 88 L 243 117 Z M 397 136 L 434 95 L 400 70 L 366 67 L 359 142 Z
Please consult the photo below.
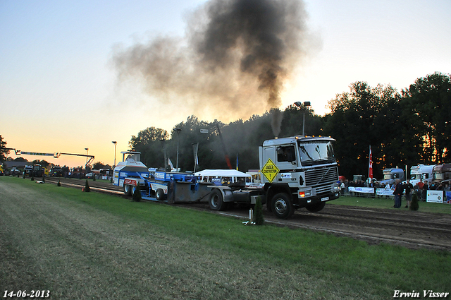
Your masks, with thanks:
M 209 212 L 29 179 L 0 177 L 0 216 L 0 292 L 49 290 L 50 299 L 391 299 L 395 290 L 451 292 L 449 252 L 243 226 Z

